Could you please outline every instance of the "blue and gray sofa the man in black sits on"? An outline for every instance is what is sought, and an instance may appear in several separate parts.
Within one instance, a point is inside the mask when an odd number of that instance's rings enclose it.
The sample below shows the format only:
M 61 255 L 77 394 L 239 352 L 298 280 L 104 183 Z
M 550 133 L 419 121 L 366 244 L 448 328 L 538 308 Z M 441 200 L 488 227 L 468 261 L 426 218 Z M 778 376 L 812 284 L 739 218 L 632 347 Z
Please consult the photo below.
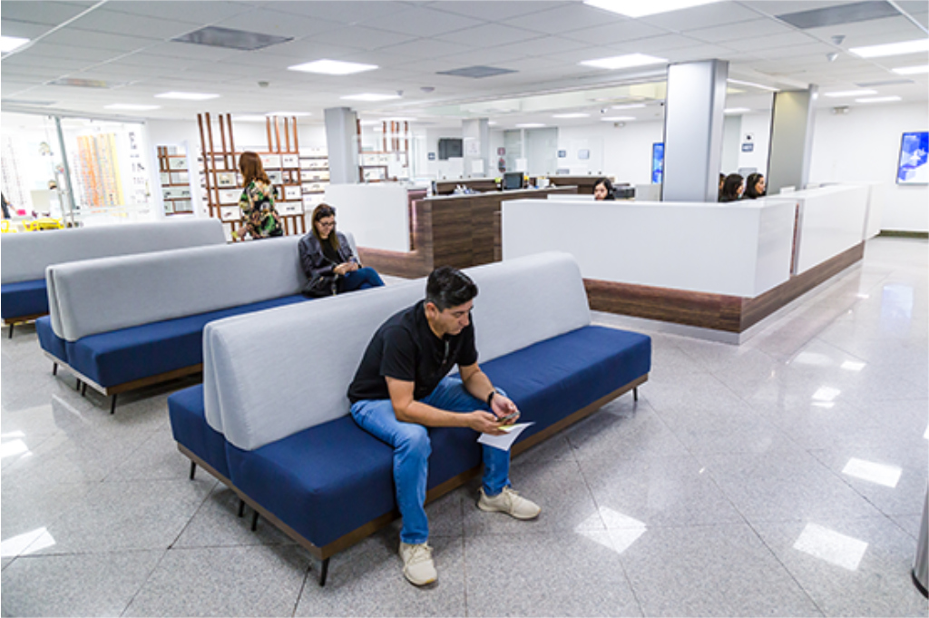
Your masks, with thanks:
M 473 319 L 481 368 L 517 402 L 522 420 L 535 423 L 514 454 L 648 379 L 650 338 L 590 323 L 570 256 L 468 272 L 480 291 Z M 168 398 L 191 478 L 205 468 L 255 517 L 321 559 L 321 585 L 331 556 L 397 517 L 392 449 L 355 424 L 346 391 L 373 332 L 424 296 L 424 287 L 418 280 L 211 322 L 203 385 Z M 433 500 L 476 474 L 481 452 L 469 429 L 431 428 L 429 435 Z

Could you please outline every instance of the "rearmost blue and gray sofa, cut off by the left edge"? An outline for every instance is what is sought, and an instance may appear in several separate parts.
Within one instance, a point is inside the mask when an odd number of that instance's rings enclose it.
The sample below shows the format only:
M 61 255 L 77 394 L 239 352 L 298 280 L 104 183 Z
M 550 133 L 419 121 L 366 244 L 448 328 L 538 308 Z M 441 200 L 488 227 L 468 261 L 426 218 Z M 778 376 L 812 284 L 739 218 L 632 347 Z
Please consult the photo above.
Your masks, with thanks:
M 226 243 L 217 219 L 50 230 L 3 235 L 0 318 L 9 336 L 20 322 L 48 313 L 46 268 L 52 264 Z

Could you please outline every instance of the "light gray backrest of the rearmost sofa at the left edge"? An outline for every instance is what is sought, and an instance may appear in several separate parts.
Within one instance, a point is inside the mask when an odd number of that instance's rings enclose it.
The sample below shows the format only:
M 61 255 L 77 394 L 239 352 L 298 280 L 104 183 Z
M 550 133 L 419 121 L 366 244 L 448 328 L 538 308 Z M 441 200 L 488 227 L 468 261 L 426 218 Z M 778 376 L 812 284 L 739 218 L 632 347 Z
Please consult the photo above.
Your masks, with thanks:
M 219 219 L 204 218 L 4 234 L 0 243 L 0 283 L 16 283 L 45 278 L 52 264 L 224 244 L 226 235 Z

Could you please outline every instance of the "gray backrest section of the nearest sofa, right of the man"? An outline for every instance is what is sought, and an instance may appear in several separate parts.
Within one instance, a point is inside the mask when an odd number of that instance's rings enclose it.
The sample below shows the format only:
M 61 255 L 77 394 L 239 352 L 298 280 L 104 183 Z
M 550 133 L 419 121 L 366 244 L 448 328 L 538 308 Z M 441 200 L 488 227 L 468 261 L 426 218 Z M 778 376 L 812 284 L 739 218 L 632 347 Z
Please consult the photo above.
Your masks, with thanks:
M 581 270 L 567 253 L 543 253 L 467 269 L 478 284 L 472 316 L 479 361 L 590 323 Z

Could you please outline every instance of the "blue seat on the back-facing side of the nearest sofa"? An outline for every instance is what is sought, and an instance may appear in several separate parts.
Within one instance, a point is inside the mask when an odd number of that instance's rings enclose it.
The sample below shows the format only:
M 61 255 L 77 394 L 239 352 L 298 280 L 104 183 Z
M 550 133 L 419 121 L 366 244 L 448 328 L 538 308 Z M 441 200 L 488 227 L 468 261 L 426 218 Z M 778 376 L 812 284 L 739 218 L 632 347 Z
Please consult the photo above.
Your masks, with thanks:
M 226 463 L 226 438 L 206 422 L 203 408 L 203 385 L 184 388 L 168 397 L 171 431 L 178 444 L 214 467 L 229 479 Z

